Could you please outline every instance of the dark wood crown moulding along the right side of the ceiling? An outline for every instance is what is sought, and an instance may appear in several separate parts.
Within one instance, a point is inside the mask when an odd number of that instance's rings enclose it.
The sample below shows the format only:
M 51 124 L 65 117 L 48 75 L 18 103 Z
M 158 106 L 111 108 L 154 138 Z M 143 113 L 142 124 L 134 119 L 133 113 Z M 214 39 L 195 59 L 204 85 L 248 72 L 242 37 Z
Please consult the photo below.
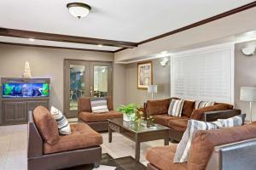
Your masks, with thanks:
M 181 31 L 189 30 L 189 29 L 194 28 L 196 26 L 202 26 L 202 25 L 205 25 L 205 24 L 207 24 L 209 22 L 212 22 L 214 20 L 219 20 L 219 19 L 222 19 L 224 17 L 230 16 L 232 14 L 236 14 L 236 13 L 239 13 L 241 11 L 247 10 L 249 8 L 254 8 L 254 7 L 256 7 L 256 1 L 254 1 L 253 3 L 247 3 L 246 5 L 243 5 L 243 6 L 238 7 L 238 8 L 233 8 L 233 9 L 231 9 L 231 10 L 229 10 L 227 12 L 224 12 L 222 14 L 217 14 L 215 16 L 207 18 L 206 20 L 200 20 L 200 21 L 195 22 L 195 23 L 193 23 L 193 24 L 191 24 L 189 26 L 183 26 L 182 28 L 178 28 L 177 30 L 166 32 L 165 34 L 162 34 L 160 36 L 151 37 L 151 38 L 148 38 L 147 40 L 143 40 L 142 42 L 137 42 L 137 45 L 141 45 L 141 44 L 147 43 L 147 42 L 152 42 L 152 41 L 160 39 L 162 37 L 171 36 L 173 34 L 176 34 L 176 33 L 181 32 Z M 117 52 L 125 50 L 125 49 L 126 48 L 120 48 L 118 50 L 115 50 L 114 53 L 117 53 Z

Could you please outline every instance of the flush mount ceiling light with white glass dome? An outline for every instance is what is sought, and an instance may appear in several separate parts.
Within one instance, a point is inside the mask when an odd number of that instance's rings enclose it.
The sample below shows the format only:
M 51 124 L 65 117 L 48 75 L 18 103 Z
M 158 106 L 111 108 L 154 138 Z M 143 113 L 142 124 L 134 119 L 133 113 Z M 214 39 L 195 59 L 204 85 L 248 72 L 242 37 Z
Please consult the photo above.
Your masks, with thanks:
M 85 3 L 67 3 L 67 8 L 70 14 L 74 17 L 82 18 L 90 12 L 90 6 Z

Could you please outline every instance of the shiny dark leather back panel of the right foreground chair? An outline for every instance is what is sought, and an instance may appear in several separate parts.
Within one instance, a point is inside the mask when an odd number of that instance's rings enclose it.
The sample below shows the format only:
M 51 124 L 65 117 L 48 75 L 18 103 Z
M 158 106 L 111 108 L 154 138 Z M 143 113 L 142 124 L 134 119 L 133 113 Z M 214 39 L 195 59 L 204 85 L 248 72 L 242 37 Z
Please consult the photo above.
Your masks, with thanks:
M 256 138 L 214 147 L 207 170 L 254 169 Z

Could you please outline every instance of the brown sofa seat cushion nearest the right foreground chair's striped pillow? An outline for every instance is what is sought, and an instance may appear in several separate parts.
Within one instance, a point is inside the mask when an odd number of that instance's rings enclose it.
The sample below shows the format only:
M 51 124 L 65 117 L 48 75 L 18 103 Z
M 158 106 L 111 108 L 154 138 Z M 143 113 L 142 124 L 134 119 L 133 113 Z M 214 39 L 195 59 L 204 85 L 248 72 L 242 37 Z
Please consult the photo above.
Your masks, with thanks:
M 188 126 L 188 117 L 183 117 L 180 119 L 170 119 L 168 121 L 168 127 L 171 127 L 174 130 L 177 130 L 178 132 L 185 132 L 187 126 Z

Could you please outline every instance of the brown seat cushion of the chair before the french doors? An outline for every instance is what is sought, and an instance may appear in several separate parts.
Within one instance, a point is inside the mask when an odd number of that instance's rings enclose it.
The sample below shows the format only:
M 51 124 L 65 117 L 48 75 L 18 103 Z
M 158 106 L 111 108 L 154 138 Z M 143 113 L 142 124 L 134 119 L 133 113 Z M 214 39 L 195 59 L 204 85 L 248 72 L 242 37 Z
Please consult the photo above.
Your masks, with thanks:
M 91 113 L 82 111 L 79 113 L 79 117 L 84 122 L 103 122 L 108 121 L 108 119 L 122 118 L 123 114 L 118 111 L 109 111 L 107 113 Z

